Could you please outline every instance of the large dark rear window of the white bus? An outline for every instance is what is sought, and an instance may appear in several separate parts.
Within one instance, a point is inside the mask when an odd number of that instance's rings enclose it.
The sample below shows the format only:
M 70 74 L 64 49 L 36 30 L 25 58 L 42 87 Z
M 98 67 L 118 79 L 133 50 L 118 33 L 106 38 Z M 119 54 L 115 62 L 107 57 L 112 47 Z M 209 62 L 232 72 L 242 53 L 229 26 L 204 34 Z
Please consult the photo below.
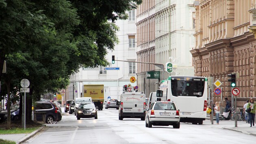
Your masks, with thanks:
M 204 94 L 204 78 L 172 77 L 171 93 L 173 96 L 202 97 Z

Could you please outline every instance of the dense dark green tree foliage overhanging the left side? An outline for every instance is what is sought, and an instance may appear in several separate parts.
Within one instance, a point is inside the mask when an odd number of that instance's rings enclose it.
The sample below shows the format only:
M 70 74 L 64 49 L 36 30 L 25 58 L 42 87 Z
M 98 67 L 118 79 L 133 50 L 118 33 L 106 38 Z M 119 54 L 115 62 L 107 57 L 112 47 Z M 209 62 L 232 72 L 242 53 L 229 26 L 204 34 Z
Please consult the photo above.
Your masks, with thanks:
M 0 0 L 0 95 L 14 94 L 20 80 L 28 79 L 26 109 L 31 112 L 32 100 L 67 87 L 69 76 L 81 66 L 107 66 L 107 49 L 113 50 L 118 42 L 118 27 L 111 21 L 126 19 L 127 11 L 141 2 Z

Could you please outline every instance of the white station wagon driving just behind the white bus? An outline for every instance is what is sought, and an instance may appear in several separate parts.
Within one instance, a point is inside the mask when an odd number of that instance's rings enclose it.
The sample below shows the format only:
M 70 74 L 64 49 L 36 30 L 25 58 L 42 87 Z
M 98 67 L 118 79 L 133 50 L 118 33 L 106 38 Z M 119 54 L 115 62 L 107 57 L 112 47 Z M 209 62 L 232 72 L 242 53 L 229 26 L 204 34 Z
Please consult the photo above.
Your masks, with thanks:
M 176 129 L 180 128 L 180 113 L 174 102 L 153 102 L 145 120 L 146 127 L 173 125 Z

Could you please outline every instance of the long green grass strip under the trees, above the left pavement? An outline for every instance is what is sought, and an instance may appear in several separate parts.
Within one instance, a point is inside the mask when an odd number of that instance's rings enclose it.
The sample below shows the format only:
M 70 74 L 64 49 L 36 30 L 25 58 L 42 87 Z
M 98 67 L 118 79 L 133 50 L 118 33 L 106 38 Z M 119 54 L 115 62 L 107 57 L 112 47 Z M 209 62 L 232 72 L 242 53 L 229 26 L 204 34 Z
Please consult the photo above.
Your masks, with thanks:
M 24 128 L 12 128 L 12 129 L 1 128 L 0 134 L 32 133 L 36 129 L 38 129 L 38 127 L 26 128 L 26 130 L 24 130 Z M 0 144 L 2 143 L 0 142 Z

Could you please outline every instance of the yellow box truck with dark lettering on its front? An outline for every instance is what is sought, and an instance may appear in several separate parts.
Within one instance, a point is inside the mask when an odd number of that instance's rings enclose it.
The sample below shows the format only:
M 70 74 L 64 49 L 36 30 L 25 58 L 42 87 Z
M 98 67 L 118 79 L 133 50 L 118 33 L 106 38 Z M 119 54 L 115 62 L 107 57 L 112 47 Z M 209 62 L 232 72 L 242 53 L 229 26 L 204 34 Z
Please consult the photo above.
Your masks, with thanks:
M 104 102 L 104 85 L 84 85 L 83 88 L 84 97 L 91 97 L 96 108 L 102 110 Z

